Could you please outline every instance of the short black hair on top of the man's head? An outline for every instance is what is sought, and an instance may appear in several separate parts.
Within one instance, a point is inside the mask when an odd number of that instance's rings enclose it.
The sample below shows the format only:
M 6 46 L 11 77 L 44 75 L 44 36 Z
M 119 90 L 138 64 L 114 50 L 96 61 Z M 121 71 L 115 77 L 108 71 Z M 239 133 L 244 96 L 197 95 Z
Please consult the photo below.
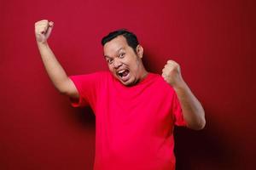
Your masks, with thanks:
M 108 34 L 108 36 L 102 38 L 102 46 L 105 45 L 105 43 L 110 42 L 113 40 L 113 38 L 118 36 L 124 36 L 126 39 L 127 44 L 134 50 L 136 53 L 136 48 L 139 42 L 137 41 L 137 37 L 134 33 L 131 31 L 127 31 L 126 29 L 120 29 L 117 31 L 112 31 Z

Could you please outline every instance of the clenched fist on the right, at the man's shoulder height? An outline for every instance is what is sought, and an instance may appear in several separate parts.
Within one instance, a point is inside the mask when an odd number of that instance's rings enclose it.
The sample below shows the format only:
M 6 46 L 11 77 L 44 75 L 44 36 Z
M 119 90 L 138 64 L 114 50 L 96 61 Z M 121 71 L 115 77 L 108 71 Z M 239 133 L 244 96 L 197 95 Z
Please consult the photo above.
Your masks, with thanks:
M 165 68 L 162 70 L 162 77 L 164 77 L 165 81 L 173 88 L 178 85 L 178 83 L 183 82 L 180 66 L 173 60 L 167 61 Z

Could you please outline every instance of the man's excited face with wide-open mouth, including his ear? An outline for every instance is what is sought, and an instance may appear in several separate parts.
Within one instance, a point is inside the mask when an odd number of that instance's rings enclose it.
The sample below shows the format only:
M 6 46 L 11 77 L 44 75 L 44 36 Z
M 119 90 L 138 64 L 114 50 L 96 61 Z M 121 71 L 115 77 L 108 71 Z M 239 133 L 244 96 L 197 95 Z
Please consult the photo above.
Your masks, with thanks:
M 141 60 L 143 48 L 140 45 L 137 46 L 136 53 L 128 45 L 125 37 L 119 36 L 107 42 L 103 50 L 109 70 L 125 86 L 134 85 L 143 79 L 145 70 Z

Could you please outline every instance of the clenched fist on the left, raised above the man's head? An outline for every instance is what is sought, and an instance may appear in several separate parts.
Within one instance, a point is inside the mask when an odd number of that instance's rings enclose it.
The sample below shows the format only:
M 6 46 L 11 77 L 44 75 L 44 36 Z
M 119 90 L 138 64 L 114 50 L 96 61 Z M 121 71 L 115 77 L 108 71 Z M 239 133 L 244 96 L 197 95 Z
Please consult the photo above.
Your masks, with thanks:
M 35 23 L 35 34 L 38 42 L 46 42 L 52 31 L 54 22 L 48 20 L 39 20 Z

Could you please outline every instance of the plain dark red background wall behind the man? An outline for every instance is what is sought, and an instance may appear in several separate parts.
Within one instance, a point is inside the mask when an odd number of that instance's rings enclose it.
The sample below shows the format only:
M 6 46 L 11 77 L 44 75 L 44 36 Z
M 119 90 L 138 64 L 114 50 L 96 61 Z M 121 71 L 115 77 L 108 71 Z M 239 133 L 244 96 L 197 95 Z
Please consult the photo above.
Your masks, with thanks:
M 106 70 L 102 36 L 128 28 L 149 71 L 176 60 L 207 116 L 202 131 L 176 128 L 177 169 L 253 169 L 255 3 L 215 1 L 15 1 L 0 3 L 0 169 L 91 169 L 95 118 L 74 109 L 44 71 L 34 23 L 68 75 Z M 253 67 L 254 66 L 254 67 Z

